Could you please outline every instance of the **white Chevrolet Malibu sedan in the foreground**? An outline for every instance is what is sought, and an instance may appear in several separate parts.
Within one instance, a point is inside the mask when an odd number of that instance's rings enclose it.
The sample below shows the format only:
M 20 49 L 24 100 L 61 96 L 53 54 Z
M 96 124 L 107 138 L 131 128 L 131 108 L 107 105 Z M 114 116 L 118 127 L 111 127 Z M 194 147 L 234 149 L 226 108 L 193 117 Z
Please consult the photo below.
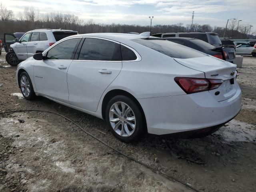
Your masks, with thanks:
M 241 108 L 236 65 L 136 34 L 80 34 L 21 62 L 20 90 L 106 119 L 124 142 L 150 134 L 201 137 Z

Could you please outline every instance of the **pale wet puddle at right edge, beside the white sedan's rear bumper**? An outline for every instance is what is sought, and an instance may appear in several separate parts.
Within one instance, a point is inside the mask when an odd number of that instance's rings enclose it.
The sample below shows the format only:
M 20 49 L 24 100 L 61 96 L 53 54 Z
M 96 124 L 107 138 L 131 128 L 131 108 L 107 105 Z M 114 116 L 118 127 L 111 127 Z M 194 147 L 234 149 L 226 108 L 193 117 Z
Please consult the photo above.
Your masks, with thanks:
M 255 142 L 256 143 L 256 129 L 255 125 L 232 120 L 222 126 L 215 134 L 220 134 L 221 137 L 227 141 L 234 142 Z

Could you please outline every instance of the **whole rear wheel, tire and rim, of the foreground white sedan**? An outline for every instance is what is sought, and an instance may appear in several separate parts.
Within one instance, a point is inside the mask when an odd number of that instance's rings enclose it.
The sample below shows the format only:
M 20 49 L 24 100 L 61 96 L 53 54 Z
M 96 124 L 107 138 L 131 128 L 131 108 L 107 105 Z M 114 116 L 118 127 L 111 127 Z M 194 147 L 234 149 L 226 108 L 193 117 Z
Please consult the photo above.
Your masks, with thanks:
M 110 131 L 122 142 L 138 140 L 143 130 L 143 118 L 137 104 L 126 96 L 115 96 L 106 107 Z

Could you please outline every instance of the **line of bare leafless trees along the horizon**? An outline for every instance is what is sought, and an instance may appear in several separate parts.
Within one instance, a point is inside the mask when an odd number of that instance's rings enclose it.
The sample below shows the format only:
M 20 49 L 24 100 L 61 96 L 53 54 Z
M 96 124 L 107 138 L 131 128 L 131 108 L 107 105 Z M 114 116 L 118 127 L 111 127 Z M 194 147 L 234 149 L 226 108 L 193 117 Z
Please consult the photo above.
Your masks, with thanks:
M 8 10 L 4 4 L 0 3 L 0 37 L 4 33 L 27 32 L 33 29 L 49 28 L 49 29 L 66 29 L 75 30 L 79 34 L 96 33 L 96 32 L 146 32 L 150 31 L 150 25 L 127 25 L 127 24 L 100 24 L 95 23 L 92 19 L 83 20 L 74 14 L 63 14 L 56 12 L 40 13 L 34 7 L 25 7 L 23 12 L 14 14 L 12 10 Z M 204 31 L 218 33 L 219 37 L 223 37 L 225 27 L 210 26 L 209 24 L 187 24 L 183 23 L 168 25 L 153 25 L 152 34 L 161 32 L 190 32 Z M 233 39 L 256 38 L 256 32 L 251 31 L 249 24 L 241 24 L 237 20 L 230 20 L 226 29 L 225 37 Z

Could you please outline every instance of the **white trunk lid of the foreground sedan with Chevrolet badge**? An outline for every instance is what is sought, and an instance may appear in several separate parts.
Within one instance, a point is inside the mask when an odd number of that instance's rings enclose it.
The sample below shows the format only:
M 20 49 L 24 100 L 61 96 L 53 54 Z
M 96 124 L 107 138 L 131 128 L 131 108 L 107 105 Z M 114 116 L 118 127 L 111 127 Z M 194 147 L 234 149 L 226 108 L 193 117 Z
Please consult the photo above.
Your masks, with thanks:
M 223 83 L 214 90 L 210 90 L 210 94 L 217 100 L 223 101 L 236 94 L 236 65 L 224 60 L 213 58 L 212 56 L 180 59 L 174 58 L 178 63 L 204 72 L 207 79 L 221 79 Z

